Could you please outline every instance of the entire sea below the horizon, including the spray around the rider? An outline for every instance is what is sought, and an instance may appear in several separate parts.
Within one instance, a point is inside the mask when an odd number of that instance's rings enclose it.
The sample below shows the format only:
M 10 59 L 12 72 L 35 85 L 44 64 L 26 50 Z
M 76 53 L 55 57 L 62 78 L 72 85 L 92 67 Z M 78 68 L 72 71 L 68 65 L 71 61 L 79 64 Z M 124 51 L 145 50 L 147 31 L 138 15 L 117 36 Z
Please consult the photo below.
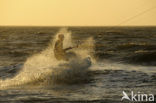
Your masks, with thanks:
M 59 33 L 77 58 L 55 60 Z M 156 96 L 156 27 L 0 27 L 0 103 L 123 103 L 123 91 Z

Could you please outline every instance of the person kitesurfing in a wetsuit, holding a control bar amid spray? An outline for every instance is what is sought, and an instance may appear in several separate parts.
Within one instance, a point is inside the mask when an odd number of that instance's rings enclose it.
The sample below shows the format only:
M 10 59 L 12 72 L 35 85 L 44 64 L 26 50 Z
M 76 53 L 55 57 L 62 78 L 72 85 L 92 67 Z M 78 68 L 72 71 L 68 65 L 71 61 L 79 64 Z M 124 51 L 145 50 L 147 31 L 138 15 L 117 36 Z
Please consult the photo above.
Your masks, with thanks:
M 54 46 L 54 55 L 55 55 L 55 58 L 57 60 L 67 61 L 68 58 L 67 58 L 66 51 L 70 50 L 70 49 L 73 49 L 75 47 L 69 47 L 69 48 L 63 49 L 63 40 L 64 40 L 64 35 L 59 34 L 58 35 L 58 40 L 56 41 L 55 46 Z M 78 47 L 78 46 L 76 46 L 76 47 Z

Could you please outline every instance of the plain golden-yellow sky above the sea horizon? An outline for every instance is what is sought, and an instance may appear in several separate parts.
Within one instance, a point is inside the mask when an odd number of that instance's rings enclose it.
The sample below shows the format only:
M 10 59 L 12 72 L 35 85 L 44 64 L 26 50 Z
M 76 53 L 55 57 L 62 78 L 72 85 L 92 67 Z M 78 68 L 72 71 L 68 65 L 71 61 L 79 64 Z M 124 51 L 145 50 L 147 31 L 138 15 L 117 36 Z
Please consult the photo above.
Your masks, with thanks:
M 0 0 L 0 25 L 156 26 L 156 0 Z

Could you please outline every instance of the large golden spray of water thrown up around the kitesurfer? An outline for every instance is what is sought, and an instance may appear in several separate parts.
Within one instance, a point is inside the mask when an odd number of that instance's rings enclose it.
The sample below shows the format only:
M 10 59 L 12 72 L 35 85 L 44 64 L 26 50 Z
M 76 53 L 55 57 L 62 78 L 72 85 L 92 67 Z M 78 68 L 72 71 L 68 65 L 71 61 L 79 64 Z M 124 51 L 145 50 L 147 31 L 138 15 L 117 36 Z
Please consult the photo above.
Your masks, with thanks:
M 88 38 L 78 48 L 71 50 L 77 55 L 76 58 L 69 61 L 57 61 L 53 50 L 60 33 L 65 36 L 64 48 L 74 45 L 71 39 L 72 33 L 67 28 L 62 28 L 44 51 L 26 60 L 22 70 L 14 78 L 0 80 L 0 88 L 77 83 L 86 79 L 86 73 L 93 60 L 91 55 L 94 47 L 93 39 Z

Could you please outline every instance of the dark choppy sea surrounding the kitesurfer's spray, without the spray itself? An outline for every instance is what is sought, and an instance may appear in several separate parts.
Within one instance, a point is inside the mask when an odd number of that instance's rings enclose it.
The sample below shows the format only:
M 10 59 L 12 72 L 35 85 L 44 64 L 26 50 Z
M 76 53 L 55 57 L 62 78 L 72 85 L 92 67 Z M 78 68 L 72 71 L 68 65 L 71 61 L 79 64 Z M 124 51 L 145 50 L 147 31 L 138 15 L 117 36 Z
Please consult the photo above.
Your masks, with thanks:
M 28 59 L 44 51 L 59 30 L 59 27 L 0 27 L 1 80 L 14 82 Z M 40 85 L 37 81 L 1 88 L 0 102 L 117 103 L 121 102 L 123 90 L 156 95 L 156 27 L 69 27 L 69 31 L 75 43 L 85 42 L 89 37 L 95 40 L 91 52 L 96 63 L 85 73 L 79 72 L 85 76 L 65 76 L 68 78 L 65 84 Z M 49 57 L 42 59 L 45 58 Z M 33 68 L 32 72 L 35 70 L 39 76 L 46 71 Z M 69 82 L 70 78 L 76 81 Z

